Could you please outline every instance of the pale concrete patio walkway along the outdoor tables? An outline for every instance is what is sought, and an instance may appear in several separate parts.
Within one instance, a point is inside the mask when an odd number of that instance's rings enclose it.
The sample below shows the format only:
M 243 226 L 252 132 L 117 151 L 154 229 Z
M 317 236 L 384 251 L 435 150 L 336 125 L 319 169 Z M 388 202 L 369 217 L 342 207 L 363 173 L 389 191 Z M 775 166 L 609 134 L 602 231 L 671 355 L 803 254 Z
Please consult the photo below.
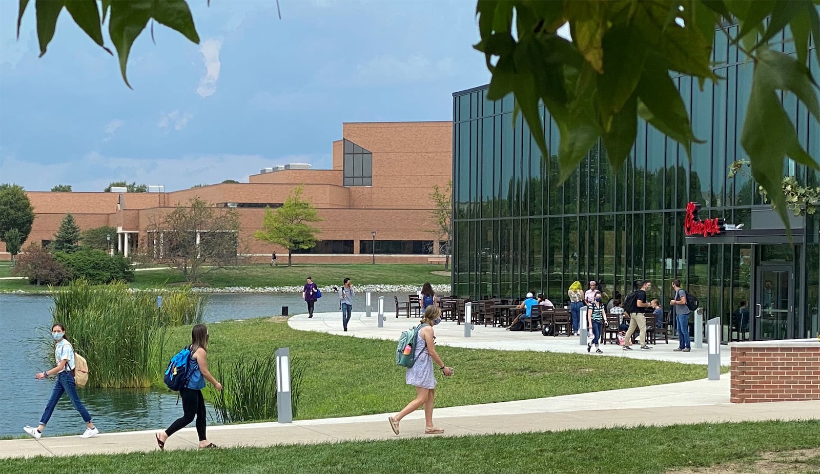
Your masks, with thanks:
M 371 317 L 366 317 L 364 312 L 353 312 L 348 322 L 348 331 L 342 329 L 341 312 L 315 312 L 313 317 L 307 314 L 297 314 L 290 317 L 288 324 L 296 330 L 312 330 L 326 332 L 332 335 L 347 335 L 351 337 L 362 337 L 367 339 L 398 340 L 399 334 L 418 324 L 417 317 L 396 318 L 395 312 L 385 312 L 384 327 L 378 327 L 376 312 Z M 586 346 L 580 345 L 578 336 L 567 337 L 543 336 L 540 331 L 524 332 L 509 331 L 500 327 L 476 325 L 471 330 L 470 337 L 464 337 L 464 326 L 457 325 L 453 321 L 441 321 L 435 326 L 435 344 L 463 347 L 471 349 L 498 349 L 498 350 L 535 350 L 558 353 L 586 353 Z M 590 339 L 591 341 L 591 339 Z M 695 349 L 695 341 L 692 341 L 692 351 L 688 353 L 674 352 L 677 349 L 677 340 L 669 340 L 669 344 L 659 341 L 658 344 L 650 344 L 653 348 L 649 351 L 638 349 L 633 345 L 633 350 L 626 351 L 616 344 L 603 344 L 600 346 L 607 357 L 628 357 L 637 359 L 659 360 L 667 362 L 681 362 L 687 364 L 707 364 L 707 346 L 704 343 L 703 349 Z M 600 357 L 594 355 L 590 357 Z M 721 346 L 721 365 L 729 365 L 729 347 Z

